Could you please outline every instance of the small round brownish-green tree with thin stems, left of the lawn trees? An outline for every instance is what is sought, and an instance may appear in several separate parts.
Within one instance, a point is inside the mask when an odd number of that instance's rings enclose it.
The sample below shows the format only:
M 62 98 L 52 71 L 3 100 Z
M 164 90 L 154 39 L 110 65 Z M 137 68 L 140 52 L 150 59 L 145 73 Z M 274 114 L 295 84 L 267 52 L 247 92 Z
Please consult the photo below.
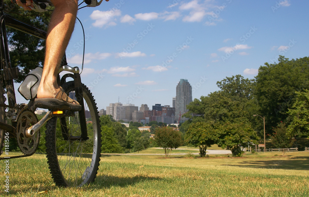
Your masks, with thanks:
M 176 149 L 181 144 L 181 135 L 179 131 L 171 127 L 159 127 L 155 130 L 155 142 L 164 149 L 165 157 L 171 149 Z

